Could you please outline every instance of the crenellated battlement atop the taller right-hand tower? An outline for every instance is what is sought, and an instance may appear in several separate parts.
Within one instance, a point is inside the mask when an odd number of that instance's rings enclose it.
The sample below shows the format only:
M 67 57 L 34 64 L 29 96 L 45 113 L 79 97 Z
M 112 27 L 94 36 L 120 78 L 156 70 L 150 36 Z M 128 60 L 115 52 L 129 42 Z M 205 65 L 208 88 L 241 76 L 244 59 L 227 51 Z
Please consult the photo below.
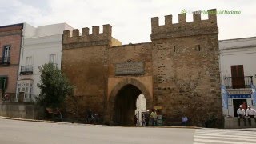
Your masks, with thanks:
M 218 34 L 216 9 L 207 10 L 208 19 L 201 19 L 201 11 L 193 12 L 193 22 L 186 22 L 186 14 L 178 14 L 178 23 L 172 15 L 165 16 L 165 25 L 159 26 L 159 18 L 151 18 L 151 40 L 177 38 L 200 34 Z

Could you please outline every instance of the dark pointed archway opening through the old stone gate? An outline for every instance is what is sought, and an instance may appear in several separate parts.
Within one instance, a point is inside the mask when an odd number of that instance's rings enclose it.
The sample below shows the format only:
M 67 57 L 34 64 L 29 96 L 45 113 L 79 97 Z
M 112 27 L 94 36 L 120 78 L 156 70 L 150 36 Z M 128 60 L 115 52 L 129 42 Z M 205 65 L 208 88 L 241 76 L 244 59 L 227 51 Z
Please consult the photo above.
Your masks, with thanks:
M 146 98 L 143 96 L 140 96 L 142 94 L 142 91 L 138 89 L 138 87 L 128 84 L 126 86 L 123 86 L 116 95 L 114 99 L 114 124 L 115 125 L 122 125 L 122 126 L 129 126 L 134 125 L 134 115 L 136 114 L 135 111 L 138 108 L 138 98 L 141 98 L 142 101 L 145 102 L 146 107 Z M 140 97 L 139 97 L 140 96 Z M 142 98 L 144 97 L 144 99 Z M 138 104 L 138 105 L 137 105 Z M 146 108 L 145 108 L 146 109 Z M 145 111 L 145 110 L 144 110 Z M 137 118 L 140 116 L 137 112 Z

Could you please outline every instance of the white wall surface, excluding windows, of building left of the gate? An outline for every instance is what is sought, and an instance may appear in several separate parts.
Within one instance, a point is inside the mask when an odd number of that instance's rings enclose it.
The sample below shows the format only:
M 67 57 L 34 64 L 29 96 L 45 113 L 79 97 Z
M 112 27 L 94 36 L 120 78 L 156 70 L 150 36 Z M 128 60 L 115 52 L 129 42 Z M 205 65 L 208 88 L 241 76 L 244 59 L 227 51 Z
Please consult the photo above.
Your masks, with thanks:
M 27 29 L 26 29 L 27 28 Z M 49 62 L 50 54 L 56 54 L 56 63 L 61 68 L 62 60 L 62 33 L 63 30 L 72 30 L 73 28 L 66 23 L 54 24 L 48 26 L 38 26 L 33 29 L 31 26 L 25 27 L 26 37 L 24 38 L 20 69 L 18 80 L 32 79 L 32 94 L 38 95 L 40 90 L 37 83 L 40 81 L 38 66 Z M 33 74 L 20 75 L 21 66 L 26 66 L 26 57 L 32 57 Z

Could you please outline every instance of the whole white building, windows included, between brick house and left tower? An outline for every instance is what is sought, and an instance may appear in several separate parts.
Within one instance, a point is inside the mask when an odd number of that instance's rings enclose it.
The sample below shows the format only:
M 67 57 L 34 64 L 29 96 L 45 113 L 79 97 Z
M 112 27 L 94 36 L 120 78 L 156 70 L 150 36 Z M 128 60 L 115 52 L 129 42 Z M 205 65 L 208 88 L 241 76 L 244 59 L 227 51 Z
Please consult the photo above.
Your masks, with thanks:
M 24 102 L 34 101 L 34 96 L 40 93 L 37 86 L 40 81 L 38 66 L 51 62 L 61 68 L 63 30 L 73 28 L 66 23 L 37 28 L 24 24 L 17 82 L 17 94 L 25 93 Z

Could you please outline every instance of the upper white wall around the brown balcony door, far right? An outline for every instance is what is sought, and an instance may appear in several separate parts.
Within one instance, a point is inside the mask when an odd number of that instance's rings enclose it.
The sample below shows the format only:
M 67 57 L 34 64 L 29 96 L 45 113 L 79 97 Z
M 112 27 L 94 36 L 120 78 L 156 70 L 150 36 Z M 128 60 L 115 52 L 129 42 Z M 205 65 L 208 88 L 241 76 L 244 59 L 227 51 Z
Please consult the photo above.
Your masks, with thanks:
M 256 84 L 256 37 L 220 41 L 219 49 L 222 84 L 231 77 L 232 65 L 243 65 L 244 75 L 253 76 Z

